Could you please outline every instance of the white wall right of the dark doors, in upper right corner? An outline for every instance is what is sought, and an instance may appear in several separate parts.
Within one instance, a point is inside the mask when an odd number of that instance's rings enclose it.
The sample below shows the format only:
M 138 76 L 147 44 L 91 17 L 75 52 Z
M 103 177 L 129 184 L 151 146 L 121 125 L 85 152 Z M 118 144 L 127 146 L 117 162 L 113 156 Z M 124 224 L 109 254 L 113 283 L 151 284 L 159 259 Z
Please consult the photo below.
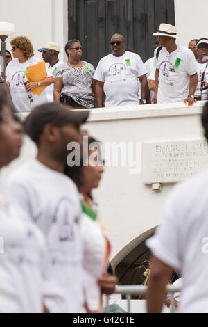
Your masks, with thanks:
M 194 38 L 208 38 L 207 13 L 207 0 L 175 0 L 177 43 L 187 47 Z

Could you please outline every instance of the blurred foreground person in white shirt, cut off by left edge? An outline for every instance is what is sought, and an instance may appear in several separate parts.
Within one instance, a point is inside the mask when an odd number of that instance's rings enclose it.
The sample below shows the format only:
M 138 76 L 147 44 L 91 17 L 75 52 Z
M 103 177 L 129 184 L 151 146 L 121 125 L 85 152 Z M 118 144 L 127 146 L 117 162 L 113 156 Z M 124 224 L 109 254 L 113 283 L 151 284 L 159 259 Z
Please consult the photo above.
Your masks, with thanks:
M 19 156 L 21 125 L 0 97 L 0 168 Z M 42 232 L 0 188 L 0 313 L 42 312 Z

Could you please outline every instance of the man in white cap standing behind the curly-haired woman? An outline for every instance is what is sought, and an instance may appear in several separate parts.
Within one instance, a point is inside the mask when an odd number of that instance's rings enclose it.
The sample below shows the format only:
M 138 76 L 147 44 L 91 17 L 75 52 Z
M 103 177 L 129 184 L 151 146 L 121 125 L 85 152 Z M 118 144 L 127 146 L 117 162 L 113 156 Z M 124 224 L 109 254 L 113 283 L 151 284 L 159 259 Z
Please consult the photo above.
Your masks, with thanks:
M 53 77 L 53 83 L 46 88 L 46 95 L 48 102 L 53 102 L 53 89 L 54 89 L 54 77 L 55 72 L 63 62 L 59 60 L 58 55 L 60 54 L 60 46 L 55 42 L 49 42 L 45 47 L 38 49 L 42 52 L 42 58 L 46 65 L 47 77 Z

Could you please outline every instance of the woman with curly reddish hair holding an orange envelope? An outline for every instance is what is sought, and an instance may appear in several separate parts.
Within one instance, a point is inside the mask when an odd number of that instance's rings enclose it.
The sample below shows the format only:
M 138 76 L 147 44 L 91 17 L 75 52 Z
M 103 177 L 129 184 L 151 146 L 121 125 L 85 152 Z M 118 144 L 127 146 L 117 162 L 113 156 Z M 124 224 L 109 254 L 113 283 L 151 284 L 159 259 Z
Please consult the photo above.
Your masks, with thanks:
M 53 82 L 53 80 L 51 81 L 51 77 L 46 77 L 46 79 L 42 81 L 30 82 L 25 85 L 26 69 L 29 66 L 36 65 L 41 61 L 41 59 L 34 56 L 34 49 L 31 40 L 25 36 L 13 38 L 10 44 L 12 45 L 14 60 L 11 61 L 6 68 L 6 81 L 10 87 L 10 93 L 16 111 L 28 112 L 31 111 L 34 106 L 47 102 L 45 90 L 40 95 L 33 95 L 31 93 L 31 98 L 28 97 L 30 94 L 28 91 L 33 91 L 35 88 L 40 86 L 48 86 Z

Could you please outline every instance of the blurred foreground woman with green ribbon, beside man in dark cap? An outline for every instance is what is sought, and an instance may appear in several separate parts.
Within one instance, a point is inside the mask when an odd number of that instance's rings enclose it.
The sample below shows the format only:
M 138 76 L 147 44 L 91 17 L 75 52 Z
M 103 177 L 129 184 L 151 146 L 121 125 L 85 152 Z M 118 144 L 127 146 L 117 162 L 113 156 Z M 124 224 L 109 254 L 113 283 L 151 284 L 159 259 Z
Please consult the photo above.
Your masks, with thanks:
M 83 134 L 83 137 L 83 144 L 87 145 L 86 150 L 84 148 L 87 157 L 82 159 L 81 166 L 66 166 L 65 173 L 78 186 L 82 201 L 85 312 L 99 313 L 102 312 L 101 294 L 112 294 L 118 280 L 116 276 L 107 273 L 111 244 L 92 198 L 92 190 L 98 188 L 104 172 L 100 143 L 87 134 Z M 88 152 L 91 146 L 94 149 Z

